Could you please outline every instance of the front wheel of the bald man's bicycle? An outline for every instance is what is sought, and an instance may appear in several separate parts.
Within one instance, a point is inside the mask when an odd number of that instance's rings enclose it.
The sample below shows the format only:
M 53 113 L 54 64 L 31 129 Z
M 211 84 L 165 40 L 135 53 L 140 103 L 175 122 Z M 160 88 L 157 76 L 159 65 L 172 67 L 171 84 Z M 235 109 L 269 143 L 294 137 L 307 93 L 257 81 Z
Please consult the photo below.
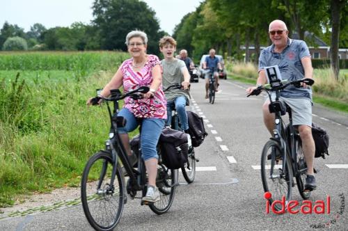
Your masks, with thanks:
M 292 169 L 289 157 L 286 157 L 285 169 L 283 169 L 283 159 L 276 159 L 276 155 L 280 153 L 280 145 L 276 141 L 267 141 L 262 150 L 261 177 L 264 192 L 271 193 L 269 205 L 272 205 L 274 200 L 282 200 L 285 197 L 286 206 L 292 196 Z M 269 154 L 271 159 L 267 159 Z M 277 204 L 275 209 L 280 211 L 282 207 Z

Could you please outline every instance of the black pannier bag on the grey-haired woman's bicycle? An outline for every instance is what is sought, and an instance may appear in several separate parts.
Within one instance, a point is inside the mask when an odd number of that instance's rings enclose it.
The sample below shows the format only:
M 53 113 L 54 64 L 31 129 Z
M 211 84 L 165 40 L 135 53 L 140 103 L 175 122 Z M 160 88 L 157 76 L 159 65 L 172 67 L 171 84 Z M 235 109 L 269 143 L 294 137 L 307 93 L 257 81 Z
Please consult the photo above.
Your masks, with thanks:
M 189 145 L 187 134 L 174 129 L 165 128 L 159 136 L 162 163 L 171 169 L 182 168 L 187 162 Z

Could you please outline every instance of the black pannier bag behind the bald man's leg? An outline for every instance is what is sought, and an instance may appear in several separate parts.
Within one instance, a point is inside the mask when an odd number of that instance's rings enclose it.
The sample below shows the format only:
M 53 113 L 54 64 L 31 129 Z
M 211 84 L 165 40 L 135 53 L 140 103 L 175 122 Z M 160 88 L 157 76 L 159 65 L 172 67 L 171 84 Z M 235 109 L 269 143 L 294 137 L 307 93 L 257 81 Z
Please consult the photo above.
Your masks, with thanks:
M 315 143 L 315 158 L 322 157 L 325 159 L 325 154 L 329 155 L 329 135 L 322 127 L 313 122 L 312 136 Z

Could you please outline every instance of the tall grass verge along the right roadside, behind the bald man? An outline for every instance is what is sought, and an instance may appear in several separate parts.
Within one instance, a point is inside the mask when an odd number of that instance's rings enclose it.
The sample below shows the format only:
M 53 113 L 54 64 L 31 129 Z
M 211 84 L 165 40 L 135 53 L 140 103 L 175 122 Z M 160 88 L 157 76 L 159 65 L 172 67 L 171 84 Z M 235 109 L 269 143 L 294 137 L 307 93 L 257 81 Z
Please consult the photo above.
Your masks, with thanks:
M 252 63 L 227 63 L 230 78 L 255 85 L 258 70 Z M 328 69 L 314 70 L 313 101 L 323 106 L 348 113 L 348 70 L 340 70 L 340 80 L 336 81 Z

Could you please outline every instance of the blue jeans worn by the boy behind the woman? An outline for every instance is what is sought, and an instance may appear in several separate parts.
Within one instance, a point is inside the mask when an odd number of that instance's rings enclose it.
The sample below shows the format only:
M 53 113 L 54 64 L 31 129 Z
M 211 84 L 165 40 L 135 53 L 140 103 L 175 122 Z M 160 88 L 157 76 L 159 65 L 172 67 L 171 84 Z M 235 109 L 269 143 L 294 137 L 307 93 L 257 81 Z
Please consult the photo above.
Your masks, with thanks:
M 167 102 L 167 121 L 166 126 L 170 126 L 172 122 L 172 107 L 175 105 L 175 110 L 177 111 L 177 116 L 179 116 L 181 129 L 187 130 L 189 129 L 189 121 L 187 119 L 187 113 L 186 113 L 186 97 L 179 96 L 176 97 L 174 100 Z

